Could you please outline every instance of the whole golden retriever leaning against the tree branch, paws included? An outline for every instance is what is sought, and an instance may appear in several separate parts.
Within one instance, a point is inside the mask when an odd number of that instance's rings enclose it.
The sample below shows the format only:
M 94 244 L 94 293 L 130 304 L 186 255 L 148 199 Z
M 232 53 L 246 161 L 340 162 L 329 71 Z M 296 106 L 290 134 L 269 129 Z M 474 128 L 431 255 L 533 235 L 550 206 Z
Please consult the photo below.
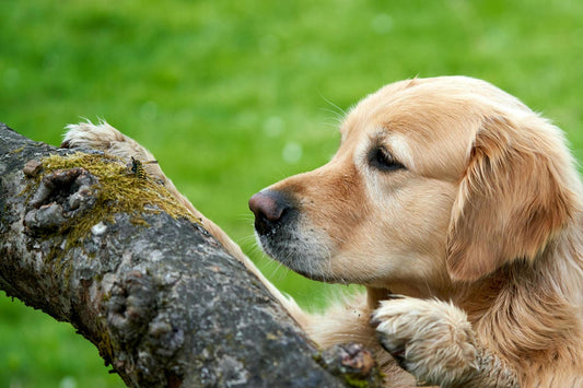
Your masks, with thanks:
M 583 387 L 583 191 L 561 130 L 485 81 L 444 77 L 381 89 L 340 132 L 328 164 L 249 200 L 272 258 L 366 287 L 318 316 L 149 168 L 320 346 L 373 349 L 387 387 Z M 65 144 L 153 158 L 106 124 L 70 126 Z

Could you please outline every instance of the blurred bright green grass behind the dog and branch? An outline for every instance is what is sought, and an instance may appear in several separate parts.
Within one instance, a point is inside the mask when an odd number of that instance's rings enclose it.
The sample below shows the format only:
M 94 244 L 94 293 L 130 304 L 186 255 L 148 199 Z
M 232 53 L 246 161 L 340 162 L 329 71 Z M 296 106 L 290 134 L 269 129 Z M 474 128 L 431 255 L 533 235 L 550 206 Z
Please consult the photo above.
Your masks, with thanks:
M 82 1 L 0 3 L 0 121 L 58 144 L 105 118 L 308 307 L 338 287 L 255 248 L 247 199 L 325 163 L 341 109 L 400 79 L 486 79 L 567 131 L 583 158 L 580 1 Z M 331 290 L 331 291 L 330 291 Z M 107 387 L 97 351 L 0 297 L 0 386 Z

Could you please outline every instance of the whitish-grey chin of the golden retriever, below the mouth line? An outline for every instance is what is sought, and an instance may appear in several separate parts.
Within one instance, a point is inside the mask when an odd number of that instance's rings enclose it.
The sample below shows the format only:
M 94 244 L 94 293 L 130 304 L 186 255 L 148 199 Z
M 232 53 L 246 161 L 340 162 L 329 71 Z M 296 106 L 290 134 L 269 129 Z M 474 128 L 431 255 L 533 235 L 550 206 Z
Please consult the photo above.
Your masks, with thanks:
M 256 233 L 263 250 L 272 259 L 311 280 L 325 283 L 346 283 L 336 279 L 324 269 L 330 260 L 328 250 L 322 245 L 311 244 L 295 236 L 267 236 Z

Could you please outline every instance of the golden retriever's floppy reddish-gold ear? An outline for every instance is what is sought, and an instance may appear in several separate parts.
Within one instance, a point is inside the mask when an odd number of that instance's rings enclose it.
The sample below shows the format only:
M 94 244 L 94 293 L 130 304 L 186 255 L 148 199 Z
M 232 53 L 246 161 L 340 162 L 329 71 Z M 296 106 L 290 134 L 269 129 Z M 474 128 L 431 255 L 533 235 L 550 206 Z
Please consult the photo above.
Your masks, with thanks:
M 514 259 L 533 260 L 569 221 L 576 199 L 563 143 L 560 130 L 540 118 L 523 126 L 502 116 L 485 119 L 447 233 L 453 280 L 474 281 Z

